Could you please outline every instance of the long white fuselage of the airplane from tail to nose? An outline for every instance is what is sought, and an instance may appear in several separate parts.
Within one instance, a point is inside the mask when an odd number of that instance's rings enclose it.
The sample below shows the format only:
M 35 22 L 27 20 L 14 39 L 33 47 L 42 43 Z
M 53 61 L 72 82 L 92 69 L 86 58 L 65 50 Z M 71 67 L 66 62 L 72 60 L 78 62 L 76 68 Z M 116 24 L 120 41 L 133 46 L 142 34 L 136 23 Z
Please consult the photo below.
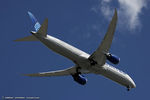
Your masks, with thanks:
M 89 71 L 90 73 L 101 74 L 126 87 L 136 87 L 134 81 L 130 78 L 130 76 L 120 71 L 119 69 L 112 67 L 107 63 L 103 66 L 100 66 L 98 64 L 91 66 L 88 60 L 90 56 L 89 54 L 50 35 L 47 35 L 46 37 L 42 37 L 36 34 L 34 35 L 49 49 L 72 60 L 81 69 Z

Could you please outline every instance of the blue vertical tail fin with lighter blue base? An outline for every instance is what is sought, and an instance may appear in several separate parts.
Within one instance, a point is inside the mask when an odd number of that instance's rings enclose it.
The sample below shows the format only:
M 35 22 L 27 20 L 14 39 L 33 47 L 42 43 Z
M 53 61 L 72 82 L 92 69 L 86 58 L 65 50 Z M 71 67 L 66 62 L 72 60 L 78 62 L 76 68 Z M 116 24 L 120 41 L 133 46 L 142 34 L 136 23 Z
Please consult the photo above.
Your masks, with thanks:
M 28 14 L 29 14 L 29 17 L 30 17 L 33 25 L 34 25 L 34 29 L 37 32 L 40 29 L 41 25 L 40 25 L 40 23 L 37 21 L 37 19 L 35 18 L 35 16 L 31 12 L 28 11 Z

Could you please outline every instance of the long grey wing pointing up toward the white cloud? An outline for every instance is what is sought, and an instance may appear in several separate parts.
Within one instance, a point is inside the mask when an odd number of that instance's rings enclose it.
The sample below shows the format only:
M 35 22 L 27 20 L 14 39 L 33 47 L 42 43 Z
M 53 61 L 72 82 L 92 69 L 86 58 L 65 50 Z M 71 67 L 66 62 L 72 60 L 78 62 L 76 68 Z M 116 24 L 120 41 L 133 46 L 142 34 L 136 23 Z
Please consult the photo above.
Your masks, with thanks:
M 89 57 L 89 60 L 92 59 L 96 61 L 99 65 L 103 65 L 106 62 L 105 53 L 109 52 L 109 48 L 111 47 L 111 43 L 113 40 L 115 28 L 117 24 L 117 10 L 115 9 L 114 16 L 109 24 L 107 33 L 104 39 L 101 42 L 101 45 L 97 48 L 97 50 Z

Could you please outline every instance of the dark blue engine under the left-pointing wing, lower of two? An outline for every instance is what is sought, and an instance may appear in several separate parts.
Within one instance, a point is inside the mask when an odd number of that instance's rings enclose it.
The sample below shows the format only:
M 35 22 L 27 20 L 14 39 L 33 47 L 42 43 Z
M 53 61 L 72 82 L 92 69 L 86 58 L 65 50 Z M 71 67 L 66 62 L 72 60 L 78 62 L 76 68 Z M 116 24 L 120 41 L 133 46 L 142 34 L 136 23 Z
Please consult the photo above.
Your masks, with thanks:
M 72 75 L 74 81 L 76 81 L 77 83 L 81 84 L 81 85 L 85 85 L 87 82 L 87 79 L 81 75 L 81 74 L 74 74 Z

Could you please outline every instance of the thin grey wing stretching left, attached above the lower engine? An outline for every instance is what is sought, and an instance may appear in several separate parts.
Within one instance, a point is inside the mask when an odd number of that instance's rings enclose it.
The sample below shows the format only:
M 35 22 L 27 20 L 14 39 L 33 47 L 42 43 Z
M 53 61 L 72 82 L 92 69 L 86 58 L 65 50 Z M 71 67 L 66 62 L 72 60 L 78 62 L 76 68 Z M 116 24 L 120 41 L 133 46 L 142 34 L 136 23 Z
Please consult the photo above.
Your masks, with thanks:
M 49 72 L 41 72 L 41 73 L 33 73 L 33 74 L 24 74 L 25 76 L 31 77 L 50 77 L 50 76 L 67 76 L 76 73 L 76 67 L 70 67 L 64 70 L 57 71 L 49 71 Z M 82 74 L 86 74 L 89 72 L 81 72 Z

